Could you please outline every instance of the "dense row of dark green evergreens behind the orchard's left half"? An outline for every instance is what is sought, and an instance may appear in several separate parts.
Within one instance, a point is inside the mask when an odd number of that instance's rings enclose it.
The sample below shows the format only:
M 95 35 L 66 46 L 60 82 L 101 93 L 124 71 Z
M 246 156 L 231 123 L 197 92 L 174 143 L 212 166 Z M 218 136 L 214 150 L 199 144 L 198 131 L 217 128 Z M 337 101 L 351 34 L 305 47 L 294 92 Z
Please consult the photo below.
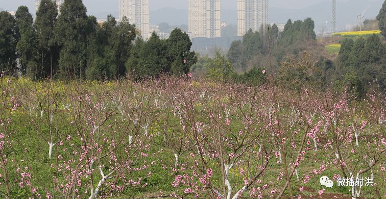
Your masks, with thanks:
M 155 34 L 144 42 L 127 18 L 111 15 L 99 24 L 81 0 L 43 0 L 33 21 L 26 6 L 15 17 L 0 13 L 0 66 L 8 74 L 45 78 L 118 79 L 161 73 L 187 74 L 196 62 L 186 33 L 176 29 L 167 40 Z M 137 41 L 134 44 L 134 40 Z M 185 61 L 184 61 L 185 60 Z

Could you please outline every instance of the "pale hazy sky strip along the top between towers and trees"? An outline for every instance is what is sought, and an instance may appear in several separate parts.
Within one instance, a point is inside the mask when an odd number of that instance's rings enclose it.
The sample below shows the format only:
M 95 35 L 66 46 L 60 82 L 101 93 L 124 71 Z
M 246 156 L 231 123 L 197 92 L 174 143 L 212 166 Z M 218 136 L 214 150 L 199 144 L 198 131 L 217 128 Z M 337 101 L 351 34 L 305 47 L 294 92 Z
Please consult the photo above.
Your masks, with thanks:
M 165 7 L 174 7 L 179 9 L 187 9 L 188 0 L 150 0 L 150 10 L 157 10 Z M 278 8 L 301 8 L 322 1 L 330 0 L 270 0 L 270 7 Z M 344 2 L 347 0 L 338 0 Z M 88 14 L 95 14 L 100 12 L 117 12 L 117 0 L 84 0 L 87 7 Z M 229 10 L 236 10 L 236 0 L 223 0 L 222 8 Z M 20 5 L 29 7 L 30 12 L 35 12 L 35 0 L 0 0 L 0 8 L 5 10 L 17 10 Z

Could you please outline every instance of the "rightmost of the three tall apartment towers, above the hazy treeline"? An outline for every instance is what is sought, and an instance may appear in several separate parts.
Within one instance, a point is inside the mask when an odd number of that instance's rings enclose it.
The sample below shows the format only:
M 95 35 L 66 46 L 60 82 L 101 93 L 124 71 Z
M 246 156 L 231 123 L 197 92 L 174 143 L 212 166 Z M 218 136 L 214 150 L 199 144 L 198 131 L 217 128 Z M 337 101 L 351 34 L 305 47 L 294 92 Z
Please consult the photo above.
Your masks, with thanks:
M 269 0 L 237 0 L 237 36 L 268 24 Z

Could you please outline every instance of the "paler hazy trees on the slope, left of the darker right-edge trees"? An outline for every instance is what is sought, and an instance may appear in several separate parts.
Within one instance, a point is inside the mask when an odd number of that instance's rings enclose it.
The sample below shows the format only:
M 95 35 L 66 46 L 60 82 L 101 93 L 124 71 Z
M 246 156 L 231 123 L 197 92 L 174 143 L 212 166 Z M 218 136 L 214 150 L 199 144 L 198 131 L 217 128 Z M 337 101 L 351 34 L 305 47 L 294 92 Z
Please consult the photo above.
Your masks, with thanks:
M 216 53 L 213 59 L 200 57 L 191 69 L 216 80 L 263 84 L 267 82 L 271 63 L 276 73 L 280 72 L 280 62 L 288 60 L 288 55 L 300 58 L 306 51 L 322 51 L 323 46 L 317 43 L 314 28 L 313 20 L 306 18 L 295 22 L 289 19 L 282 32 L 276 24 L 266 28 L 262 26 L 255 32 L 250 29 L 242 40 L 232 42 L 226 56 Z M 319 55 L 317 57 L 319 59 Z

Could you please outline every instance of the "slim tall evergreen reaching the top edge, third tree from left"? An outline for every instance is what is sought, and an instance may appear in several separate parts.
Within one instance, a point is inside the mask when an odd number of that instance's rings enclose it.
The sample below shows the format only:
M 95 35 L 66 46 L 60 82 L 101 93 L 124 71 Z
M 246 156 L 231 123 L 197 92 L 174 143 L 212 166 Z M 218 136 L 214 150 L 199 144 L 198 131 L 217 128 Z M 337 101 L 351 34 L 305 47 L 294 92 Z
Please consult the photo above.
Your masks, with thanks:
M 33 80 L 52 78 L 57 71 L 59 51 L 54 35 L 57 16 L 55 1 L 41 0 L 35 18 L 37 64 L 27 68 L 27 73 Z

